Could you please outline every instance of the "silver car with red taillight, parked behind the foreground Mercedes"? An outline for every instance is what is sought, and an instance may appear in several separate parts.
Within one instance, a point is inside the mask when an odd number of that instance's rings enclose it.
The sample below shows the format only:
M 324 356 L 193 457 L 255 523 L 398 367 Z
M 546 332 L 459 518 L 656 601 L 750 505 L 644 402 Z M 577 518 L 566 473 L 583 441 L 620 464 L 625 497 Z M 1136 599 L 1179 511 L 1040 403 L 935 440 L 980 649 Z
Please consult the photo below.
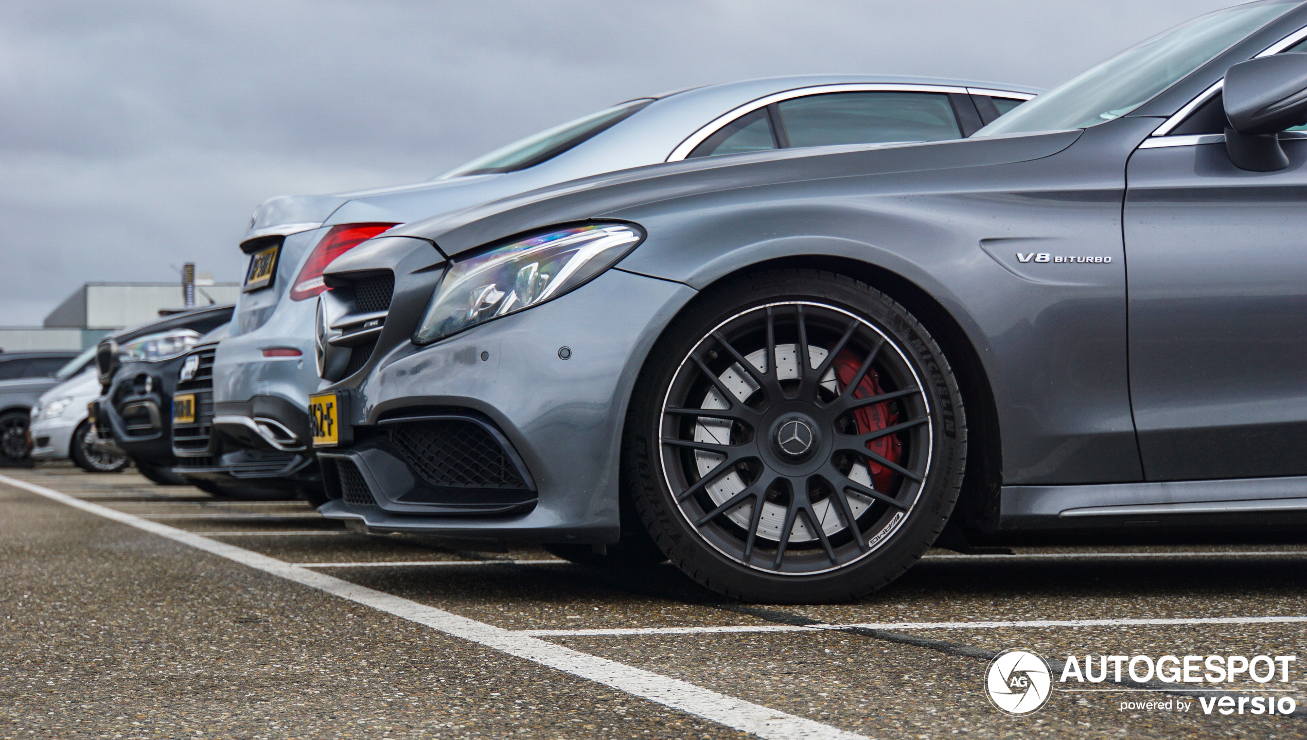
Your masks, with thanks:
M 260 205 L 240 248 L 251 255 L 231 336 L 212 357 L 210 437 L 175 447 L 176 472 L 257 469 L 281 485 L 319 488 L 308 448 L 307 394 L 319 371 L 341 379 L 362 369 L 380 331 L 350 332 L 349 352 L 315 367 L 316 301 L 323 269 L 392 226 L 574 180 L 695 157 L 770 149 L 970 136 L 1036 89 L 907 77 L 805 76 L 710 85 L 638 98 L 527 137 L 430 182 Z M 380 315 L 389 273 L 354 284 L 357 309 Z M 371 306 L 371 309 L 369 309 Z M 357 316 L 354 316 L 357 318 Z M 363 318 L 366 324 L 366 316 Z M 366 326 L 363 328 L 367 328 Z M 196 361 L 199 362 L 199 360 Z M 210 360 L 204 358 L 208 365 Z M 314 498 L 310 496 L 310 498 Z

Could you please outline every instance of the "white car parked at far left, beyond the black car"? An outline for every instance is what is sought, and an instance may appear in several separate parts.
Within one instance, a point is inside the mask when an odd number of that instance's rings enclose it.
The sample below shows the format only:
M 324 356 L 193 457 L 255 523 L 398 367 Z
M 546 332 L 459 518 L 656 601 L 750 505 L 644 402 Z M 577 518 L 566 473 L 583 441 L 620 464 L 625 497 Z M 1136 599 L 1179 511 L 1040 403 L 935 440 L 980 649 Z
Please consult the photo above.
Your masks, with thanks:
M 69 363 L 72 365 L 72 363 Z M 42 394 L 31 409 L 31 456 L 37 460 L 72 459 L 93 473 L 116 473 L 127 458 L 95 450 L 95 429 L 86 404 L 99 397 L 99 375 L 91 365 Z

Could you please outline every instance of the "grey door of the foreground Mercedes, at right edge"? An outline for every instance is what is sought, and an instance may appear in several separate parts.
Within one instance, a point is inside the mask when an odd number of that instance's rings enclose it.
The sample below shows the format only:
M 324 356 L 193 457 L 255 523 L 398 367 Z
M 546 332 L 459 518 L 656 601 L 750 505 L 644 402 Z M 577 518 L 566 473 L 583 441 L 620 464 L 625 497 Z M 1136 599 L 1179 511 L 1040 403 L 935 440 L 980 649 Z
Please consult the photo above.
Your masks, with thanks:
M 1151 481 L 1307 475 L 1307 140 L 1236 169 L 1219 94 L 1127 167 L 1131 397 Z M 1282 136 L 1282 139 L 1285 139 Z

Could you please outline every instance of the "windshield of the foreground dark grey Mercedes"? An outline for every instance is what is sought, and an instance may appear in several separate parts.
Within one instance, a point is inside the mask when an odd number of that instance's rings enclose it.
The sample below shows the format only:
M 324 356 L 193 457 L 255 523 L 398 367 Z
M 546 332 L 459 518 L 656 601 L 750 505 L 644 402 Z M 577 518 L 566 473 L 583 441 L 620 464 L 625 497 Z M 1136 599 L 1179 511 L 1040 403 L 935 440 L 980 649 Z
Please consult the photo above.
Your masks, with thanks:
M 1193 18 L 1072 77 L 972 136 L 1089 128 L 1123 116 L 1283 14 L 1290 4 L 1252 3 Z

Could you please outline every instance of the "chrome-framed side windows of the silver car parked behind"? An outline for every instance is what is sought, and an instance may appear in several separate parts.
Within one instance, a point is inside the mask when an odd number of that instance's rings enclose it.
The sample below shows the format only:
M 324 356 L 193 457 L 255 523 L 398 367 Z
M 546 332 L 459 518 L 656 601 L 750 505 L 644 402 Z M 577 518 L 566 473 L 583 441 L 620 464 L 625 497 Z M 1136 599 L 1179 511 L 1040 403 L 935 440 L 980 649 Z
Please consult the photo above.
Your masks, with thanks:
M 1002 101 L 1009 110 L 1014 107 Z M 970 136 L 985 123 L 966 92 L 923 88 L 799 94 L 742 114 L 686 158 L 833 144 L 942 141 Z

